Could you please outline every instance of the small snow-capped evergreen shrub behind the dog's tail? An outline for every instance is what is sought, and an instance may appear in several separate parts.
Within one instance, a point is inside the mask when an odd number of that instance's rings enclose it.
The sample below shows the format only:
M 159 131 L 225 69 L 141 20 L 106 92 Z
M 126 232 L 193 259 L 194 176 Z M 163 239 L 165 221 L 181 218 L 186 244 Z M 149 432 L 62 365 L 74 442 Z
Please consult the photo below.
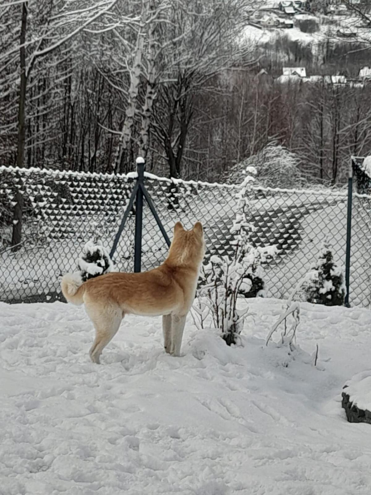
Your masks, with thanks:
M 100 241 L 88 241 L 79 257 L 79 270 L 83 282 L 113 271 L 113 263 L 108 251 Z

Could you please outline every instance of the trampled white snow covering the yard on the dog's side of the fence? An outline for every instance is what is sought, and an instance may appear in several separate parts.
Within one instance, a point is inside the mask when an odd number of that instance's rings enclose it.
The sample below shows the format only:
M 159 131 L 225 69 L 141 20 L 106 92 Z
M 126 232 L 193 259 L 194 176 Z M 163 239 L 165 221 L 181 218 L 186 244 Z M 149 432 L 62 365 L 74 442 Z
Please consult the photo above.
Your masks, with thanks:
M 180 358 L 128 317 L 98 366 L 83 308 L 0 303 L 0 494 L 369 495 L 371 426 L 340 401 L 371 312 L 303 304 L 289 355 L 264 341 L 281 305 L 252 301 L 232 348 L 189 318 Z

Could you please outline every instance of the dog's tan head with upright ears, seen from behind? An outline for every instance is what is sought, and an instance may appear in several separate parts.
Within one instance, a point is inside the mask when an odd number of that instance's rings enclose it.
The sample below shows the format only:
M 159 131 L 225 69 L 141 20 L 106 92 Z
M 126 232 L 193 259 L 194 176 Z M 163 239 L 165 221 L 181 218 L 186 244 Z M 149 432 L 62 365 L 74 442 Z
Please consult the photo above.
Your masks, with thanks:
M 174 226 L 174 238 L 169 258 L 174 264 L 199 266 L 205 254 L 205 240 L 201 222 L 185 230 L 181 222 Z

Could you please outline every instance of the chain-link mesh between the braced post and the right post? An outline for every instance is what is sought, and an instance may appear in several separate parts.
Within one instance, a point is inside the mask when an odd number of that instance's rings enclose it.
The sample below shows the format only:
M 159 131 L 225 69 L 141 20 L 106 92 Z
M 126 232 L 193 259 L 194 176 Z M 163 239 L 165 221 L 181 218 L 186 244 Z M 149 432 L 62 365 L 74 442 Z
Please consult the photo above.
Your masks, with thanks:
M 231 228 L 237 212 L 238 186 L 178 182 L 176 188 L 165 180 L 146 180 L 155 199 L 161 221 L 169 231 L 177 220 L 186 228 L 200 220 L 204 225 L 206 258 L 212 254 L 234 253 Z M 333 191 L 285 191 L 252 188 L 247 191 L 254 226 L 254 247 L 275 246 L 277 256 L 264 264 L 268 296 L 288 297 L 296 283 L 319 256 L 325 238 L 335 262 L 345 262 L 347 193 Z M 165 199 L 165 201 L 164 201 Z M 175 204 L 174 204 L 175 203 Z M 154 220 L 143 218 L 143 238 L 152 236 Z M 158 234 L 160 236 L 160 234 Z M 145 250 L 145 242 L 143 242 Z M 167 248 L 157 251 L 156 264 L 163 261 Z M 153 253 L 142 259 L 143 268 L 153 267 Z

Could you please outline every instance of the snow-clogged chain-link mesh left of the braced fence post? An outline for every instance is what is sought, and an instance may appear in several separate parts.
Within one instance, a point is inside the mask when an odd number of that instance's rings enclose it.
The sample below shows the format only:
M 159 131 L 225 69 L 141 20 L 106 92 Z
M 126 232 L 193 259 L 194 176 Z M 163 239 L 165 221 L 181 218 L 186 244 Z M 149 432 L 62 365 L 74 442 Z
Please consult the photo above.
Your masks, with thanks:
M 135 180 L 36 169 L 0 168 L 0 300 L 33 302 L 63 298 L 60 278 L 76 271 L 84 244 L 110 246 Z M 12 247 L 13 209 L 23 198 L 22 241 Z M 118 268 L 129 268 L 134 237 L 118 250 Z

